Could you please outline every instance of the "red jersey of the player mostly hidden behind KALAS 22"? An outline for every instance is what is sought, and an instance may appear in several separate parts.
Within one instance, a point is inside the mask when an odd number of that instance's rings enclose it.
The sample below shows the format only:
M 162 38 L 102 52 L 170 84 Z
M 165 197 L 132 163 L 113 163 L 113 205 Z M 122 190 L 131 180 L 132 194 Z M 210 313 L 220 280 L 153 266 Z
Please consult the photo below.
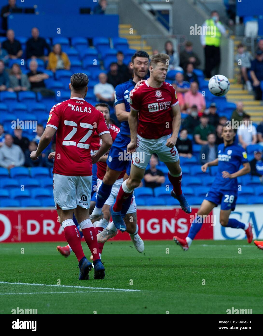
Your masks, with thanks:
M 115 140 L 117 134 L 119 133 L 120 129 L 116 125 L 109 124 L 109 131 L 110 135 L 112 137 L 112 142 Z M 96 154 L 97 151 L 100 149 L 100 146 L 102 144 L 102 140 L 99 138 L 99 136 L 95 133 L 94 137 L 92 138 L 91 142 L 91 151 L 92 154 Z M 105 153 L 105 155 L 109 155 L 109 151 Z M 103 180 L 104 175 L 106 174 L 107 169 L 107 163 L 99 161 L 97 162 L 97 178 Z M 119 176 L 119 178 L 122 178 L 125 174 L 125 170 L 123 170 Z

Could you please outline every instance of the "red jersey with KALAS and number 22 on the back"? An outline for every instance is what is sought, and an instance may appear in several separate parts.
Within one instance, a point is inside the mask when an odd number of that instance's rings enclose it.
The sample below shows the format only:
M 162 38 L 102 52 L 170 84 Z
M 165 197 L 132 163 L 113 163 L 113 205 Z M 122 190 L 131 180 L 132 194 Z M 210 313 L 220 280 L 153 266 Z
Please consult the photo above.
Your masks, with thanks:
M 83 98 L 70 98 L 53 106 L 48 126 L 57 130 L 53 173 L 91 176 L 93 134 L 109 133 L 103 114 Z

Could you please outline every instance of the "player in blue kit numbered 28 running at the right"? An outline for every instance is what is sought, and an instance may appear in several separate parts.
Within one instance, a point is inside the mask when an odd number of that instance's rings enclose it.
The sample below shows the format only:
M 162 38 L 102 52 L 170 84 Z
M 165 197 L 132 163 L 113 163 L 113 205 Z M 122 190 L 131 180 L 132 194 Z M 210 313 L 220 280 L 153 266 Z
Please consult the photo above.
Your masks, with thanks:
M 206 194 L 197 216 L 189 230 L 186 239 L 177 236 L 173 237 L 176 244 L 187 251 L 201 229 L 204 219 L 207 219 L 212 209 L 218 204 L 221 205 L 220 224 L 225 227 L 242 228 L 245 230 L 248 242 L 253 239 L 251 224 L 244 224 L 236 219 L 230 218 L 231 211 L 235 209 L 236 199 L 238 197 L 238 176 L 248 174 L 250 172 L 250 164 L 247 159 L 247 153 L 240 145 L 234 143 L 234 130 L 229 124 L 223 126 L 222 137 L 224 142 L 218 145 L 218 156 L 214 161 L 204 164 L 201 169 L 206 172 L 208 167 L 218 166 L 218 172 L 215 180 Z M 243 165 L 242 169 L 239 167 Z M 209 221 L 210 223 L 211 221 Z

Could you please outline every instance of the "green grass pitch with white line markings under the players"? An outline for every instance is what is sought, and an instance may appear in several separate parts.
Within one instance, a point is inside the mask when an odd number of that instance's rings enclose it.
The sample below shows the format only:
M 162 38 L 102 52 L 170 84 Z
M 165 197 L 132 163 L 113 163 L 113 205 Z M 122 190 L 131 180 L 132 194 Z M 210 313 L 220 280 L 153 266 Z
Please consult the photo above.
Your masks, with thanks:
M 56 251 L 64 244 L 0 245 L 1 314 L 16 307 L 38 314 L 226 314 L 231 307 L 263 313 L 263 251 L 245 240 L 194 241 L 187 252 L 172 240 L 145 241 L 144 253 L 130 241 L 109 241 L 105 279 L 94 280 L 91 271 L 86 281 L 78 280 L 74 254 Z M 59 280 L 72 287 L 57 286 Z M 55 286 L 11 284 L 17 282 Z

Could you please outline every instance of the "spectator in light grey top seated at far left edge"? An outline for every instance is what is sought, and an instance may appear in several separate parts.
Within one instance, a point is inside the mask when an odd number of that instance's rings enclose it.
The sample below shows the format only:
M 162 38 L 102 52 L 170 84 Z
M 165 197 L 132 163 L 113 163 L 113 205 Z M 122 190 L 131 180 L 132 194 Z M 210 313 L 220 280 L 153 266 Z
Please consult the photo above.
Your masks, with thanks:
M 25 161 L 24 153 L 18 145 L 13 144 L 13 137 L 5 135 L 5 143 L 0 148 L 0 166 L 11 169 L 23 166 Z

